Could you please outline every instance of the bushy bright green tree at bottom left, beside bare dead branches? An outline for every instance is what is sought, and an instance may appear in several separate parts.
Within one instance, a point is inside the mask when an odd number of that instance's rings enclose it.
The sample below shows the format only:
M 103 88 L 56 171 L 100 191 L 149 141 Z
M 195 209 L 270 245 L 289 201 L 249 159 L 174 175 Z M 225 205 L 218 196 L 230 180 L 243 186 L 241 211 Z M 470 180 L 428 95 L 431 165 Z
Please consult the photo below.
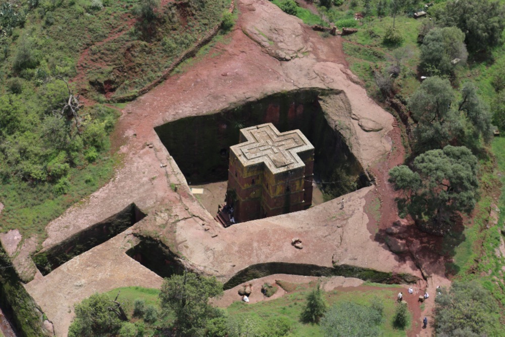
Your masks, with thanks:
M 112 302 L 105 294 L 94 294 L 75 306 L 69 337 L 109 336 L 119 332 L 121 320 L 109 310 Z

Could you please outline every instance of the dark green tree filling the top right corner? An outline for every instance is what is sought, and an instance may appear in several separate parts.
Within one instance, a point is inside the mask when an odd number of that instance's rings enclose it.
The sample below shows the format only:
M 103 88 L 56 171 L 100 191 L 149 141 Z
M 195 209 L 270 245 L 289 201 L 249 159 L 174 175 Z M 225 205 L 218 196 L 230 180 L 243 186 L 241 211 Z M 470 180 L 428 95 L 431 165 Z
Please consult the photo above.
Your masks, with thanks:
M 500 44 L 505 28 L 505 10 L 494 0 L 450 0 L 433 13 L 438 24 L 458 27 L 465 33 L 471 54 L 489 52 Z

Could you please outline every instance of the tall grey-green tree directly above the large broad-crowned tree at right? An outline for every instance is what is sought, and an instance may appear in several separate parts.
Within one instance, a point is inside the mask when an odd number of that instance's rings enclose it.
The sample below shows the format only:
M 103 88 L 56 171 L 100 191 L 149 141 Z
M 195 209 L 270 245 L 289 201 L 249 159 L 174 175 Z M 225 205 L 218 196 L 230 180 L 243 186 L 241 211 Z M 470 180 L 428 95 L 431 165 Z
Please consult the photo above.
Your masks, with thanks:
M 441 148 L 461 129 L 461 121 L 450 109 L 454 92 L 448 80 L 429 77 L 412 94 L 409 108 L 417 121 L 414 129 L 419 152 Z

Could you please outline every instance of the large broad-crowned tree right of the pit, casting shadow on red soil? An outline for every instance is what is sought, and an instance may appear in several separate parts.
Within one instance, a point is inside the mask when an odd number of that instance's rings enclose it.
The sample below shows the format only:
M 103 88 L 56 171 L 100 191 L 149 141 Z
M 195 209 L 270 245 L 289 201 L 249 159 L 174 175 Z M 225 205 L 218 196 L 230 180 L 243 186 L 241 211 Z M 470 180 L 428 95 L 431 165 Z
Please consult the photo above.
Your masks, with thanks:
M 455 212 L 472 212 L 477 198 L 477 158 L 465 147 L 446 146 L 419 155 L 413 169 L 389 171 L 389 182 L 403 190 L 400 215 L 412 215 L 421 228 L 438 234 L 450 229 Z

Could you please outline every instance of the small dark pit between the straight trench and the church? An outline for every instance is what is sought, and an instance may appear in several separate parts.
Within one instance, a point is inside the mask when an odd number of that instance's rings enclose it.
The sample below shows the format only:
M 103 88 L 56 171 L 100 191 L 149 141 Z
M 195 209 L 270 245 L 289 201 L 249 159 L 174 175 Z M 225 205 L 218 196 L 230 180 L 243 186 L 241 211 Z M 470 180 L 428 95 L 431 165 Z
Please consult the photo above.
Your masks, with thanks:
M 184 271 L 176 256 L 159 242 L 144 239 L 126 251 L 126 254 L 161 277 L 170 277 Z

